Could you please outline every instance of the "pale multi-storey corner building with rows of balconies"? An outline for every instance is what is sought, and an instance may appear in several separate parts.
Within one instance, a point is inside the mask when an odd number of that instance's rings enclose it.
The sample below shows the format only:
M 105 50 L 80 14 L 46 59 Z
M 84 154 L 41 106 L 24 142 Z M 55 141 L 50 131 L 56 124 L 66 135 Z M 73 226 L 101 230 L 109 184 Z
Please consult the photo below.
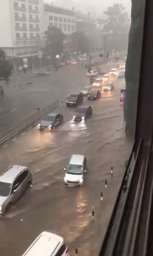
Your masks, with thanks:
M 8 57 L 38 54 L 42 16 L 43 0 L 0 1 L 0 48 Z

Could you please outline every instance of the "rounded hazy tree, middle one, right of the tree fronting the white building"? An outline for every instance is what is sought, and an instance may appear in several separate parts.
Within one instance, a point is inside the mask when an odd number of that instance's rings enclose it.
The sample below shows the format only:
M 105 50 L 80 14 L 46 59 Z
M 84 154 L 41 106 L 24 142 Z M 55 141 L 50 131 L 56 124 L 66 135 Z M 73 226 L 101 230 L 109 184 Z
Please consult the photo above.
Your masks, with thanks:
M 88 46 L 87 37 L 83 31 L 76 31 L 71 34 L 71 47 L 74 51 L 77 51 L 77 54 L 79 52 L 81 54 L 87 53 Z

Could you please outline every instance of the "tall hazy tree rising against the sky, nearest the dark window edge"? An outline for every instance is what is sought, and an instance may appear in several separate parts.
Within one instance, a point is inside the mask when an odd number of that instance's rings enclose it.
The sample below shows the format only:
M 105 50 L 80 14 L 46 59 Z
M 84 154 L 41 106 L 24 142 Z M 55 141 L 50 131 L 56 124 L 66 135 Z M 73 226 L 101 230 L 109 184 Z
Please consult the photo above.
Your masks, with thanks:
M 115 52 L 126 50 L 130 20 L 125 7 L 122 4 L 114 3 L 113 6 L 108 7 L 107 11 L 104 11 L 104 14 L 107 15 L 107 19 L 101 21 L 103 23 L 101 33 L 105 44 L 104 48 L 107 47 L 107 51 L 114 50 Z

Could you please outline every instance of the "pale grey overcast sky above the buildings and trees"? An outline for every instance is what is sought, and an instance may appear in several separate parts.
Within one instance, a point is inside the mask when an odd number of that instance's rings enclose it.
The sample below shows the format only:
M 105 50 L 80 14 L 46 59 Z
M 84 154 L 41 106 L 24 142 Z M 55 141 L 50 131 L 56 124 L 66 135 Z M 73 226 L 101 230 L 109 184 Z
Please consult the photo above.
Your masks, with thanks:
M 65 8 L 71 9 L 76 7 L 77 10 L 82 10 L 84 13 L 87 11 L 93 10 L 94 14 L 97 11 L 97 14 L 107 10 L 109 6 L 112 6 L 113 3 L 122 3 L 126 7 L 126 10 L 130 14 L 131 12 L 131 0 L 44 0 L 46 3 L 54 3 L 55 5 L 60 5 Z

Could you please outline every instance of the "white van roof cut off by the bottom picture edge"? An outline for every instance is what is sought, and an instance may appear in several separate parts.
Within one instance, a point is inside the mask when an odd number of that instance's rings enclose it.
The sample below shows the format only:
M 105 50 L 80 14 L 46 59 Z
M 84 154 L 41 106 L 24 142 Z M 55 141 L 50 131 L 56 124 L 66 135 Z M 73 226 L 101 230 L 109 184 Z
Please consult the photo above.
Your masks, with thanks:
M 44 231 L 22 256 L 69 256 L 69 252 L 61 236 Z

